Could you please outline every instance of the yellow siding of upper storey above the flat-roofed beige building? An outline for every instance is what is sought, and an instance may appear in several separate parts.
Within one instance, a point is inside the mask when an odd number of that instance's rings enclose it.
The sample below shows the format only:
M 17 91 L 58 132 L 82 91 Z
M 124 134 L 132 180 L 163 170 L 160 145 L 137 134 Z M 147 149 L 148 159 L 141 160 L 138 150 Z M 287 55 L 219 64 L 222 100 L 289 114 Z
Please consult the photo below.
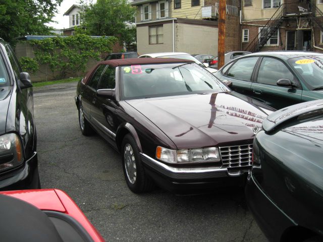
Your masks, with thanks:
M 174 9 L 174 2 L 172 4 L 172 17 L 173 18 L 188 18 L 188 19 L 201 19 L 202 10 L 201 5 L 196 7 L 191 7 L 191 0 L 182 0 L 181 8 Z M 202 4 L 202 0 L 200 0 Z

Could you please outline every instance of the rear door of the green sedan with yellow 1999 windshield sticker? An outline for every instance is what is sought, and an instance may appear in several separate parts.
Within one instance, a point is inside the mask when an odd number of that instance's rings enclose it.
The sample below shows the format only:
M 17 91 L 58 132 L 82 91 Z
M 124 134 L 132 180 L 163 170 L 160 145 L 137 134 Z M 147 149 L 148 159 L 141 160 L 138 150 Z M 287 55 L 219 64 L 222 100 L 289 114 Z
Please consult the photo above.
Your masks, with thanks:
M 232 81 L 230 87 L 232 90 L 249 96 L 252 93 L 251 82 L 258 59 L 258 56 L 238 59 L 233 64 L 229 64 L 229 68 L 225 66 L 220 73 L 216 73 L 216 77 L 221 81 Z

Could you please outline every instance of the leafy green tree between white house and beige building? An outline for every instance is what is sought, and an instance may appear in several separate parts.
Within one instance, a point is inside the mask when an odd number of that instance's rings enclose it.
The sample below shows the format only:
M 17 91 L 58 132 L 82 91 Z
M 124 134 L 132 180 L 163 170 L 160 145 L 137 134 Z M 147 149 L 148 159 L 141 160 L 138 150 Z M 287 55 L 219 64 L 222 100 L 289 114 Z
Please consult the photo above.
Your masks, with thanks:
M 97 0 L 95 4 L 81 2 L 82 25 L 91 35 L 116 36 L 121 42 L 135 40 L 133 23 L 136 9 L 127 0 Z

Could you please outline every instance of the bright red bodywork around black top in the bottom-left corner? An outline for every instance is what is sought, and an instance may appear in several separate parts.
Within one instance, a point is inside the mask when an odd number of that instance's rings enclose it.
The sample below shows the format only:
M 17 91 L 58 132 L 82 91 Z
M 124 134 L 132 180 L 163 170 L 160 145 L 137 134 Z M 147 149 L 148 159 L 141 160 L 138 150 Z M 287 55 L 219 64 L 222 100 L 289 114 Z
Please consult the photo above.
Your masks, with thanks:
M 0 194 L 9 195 L 30 203 L 40 210 L 66 213 L 76 219 L 94 241 L 104 241 L 96 228 L 88 221 L 76 203 L 63 191 L 58 189 L 6 191 Z

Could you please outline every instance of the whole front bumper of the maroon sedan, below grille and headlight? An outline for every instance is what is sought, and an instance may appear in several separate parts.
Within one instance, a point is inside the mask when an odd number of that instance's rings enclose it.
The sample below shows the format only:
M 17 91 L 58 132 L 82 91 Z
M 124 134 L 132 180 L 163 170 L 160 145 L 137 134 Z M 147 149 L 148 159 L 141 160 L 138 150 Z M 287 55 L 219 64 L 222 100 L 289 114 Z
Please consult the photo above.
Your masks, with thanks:
M 145 172 L 156 184 L 176 194 L 208 193 L 218 187 L 243 186 L 250 166 L 223 167 L 173 167 L 141 153 Z

